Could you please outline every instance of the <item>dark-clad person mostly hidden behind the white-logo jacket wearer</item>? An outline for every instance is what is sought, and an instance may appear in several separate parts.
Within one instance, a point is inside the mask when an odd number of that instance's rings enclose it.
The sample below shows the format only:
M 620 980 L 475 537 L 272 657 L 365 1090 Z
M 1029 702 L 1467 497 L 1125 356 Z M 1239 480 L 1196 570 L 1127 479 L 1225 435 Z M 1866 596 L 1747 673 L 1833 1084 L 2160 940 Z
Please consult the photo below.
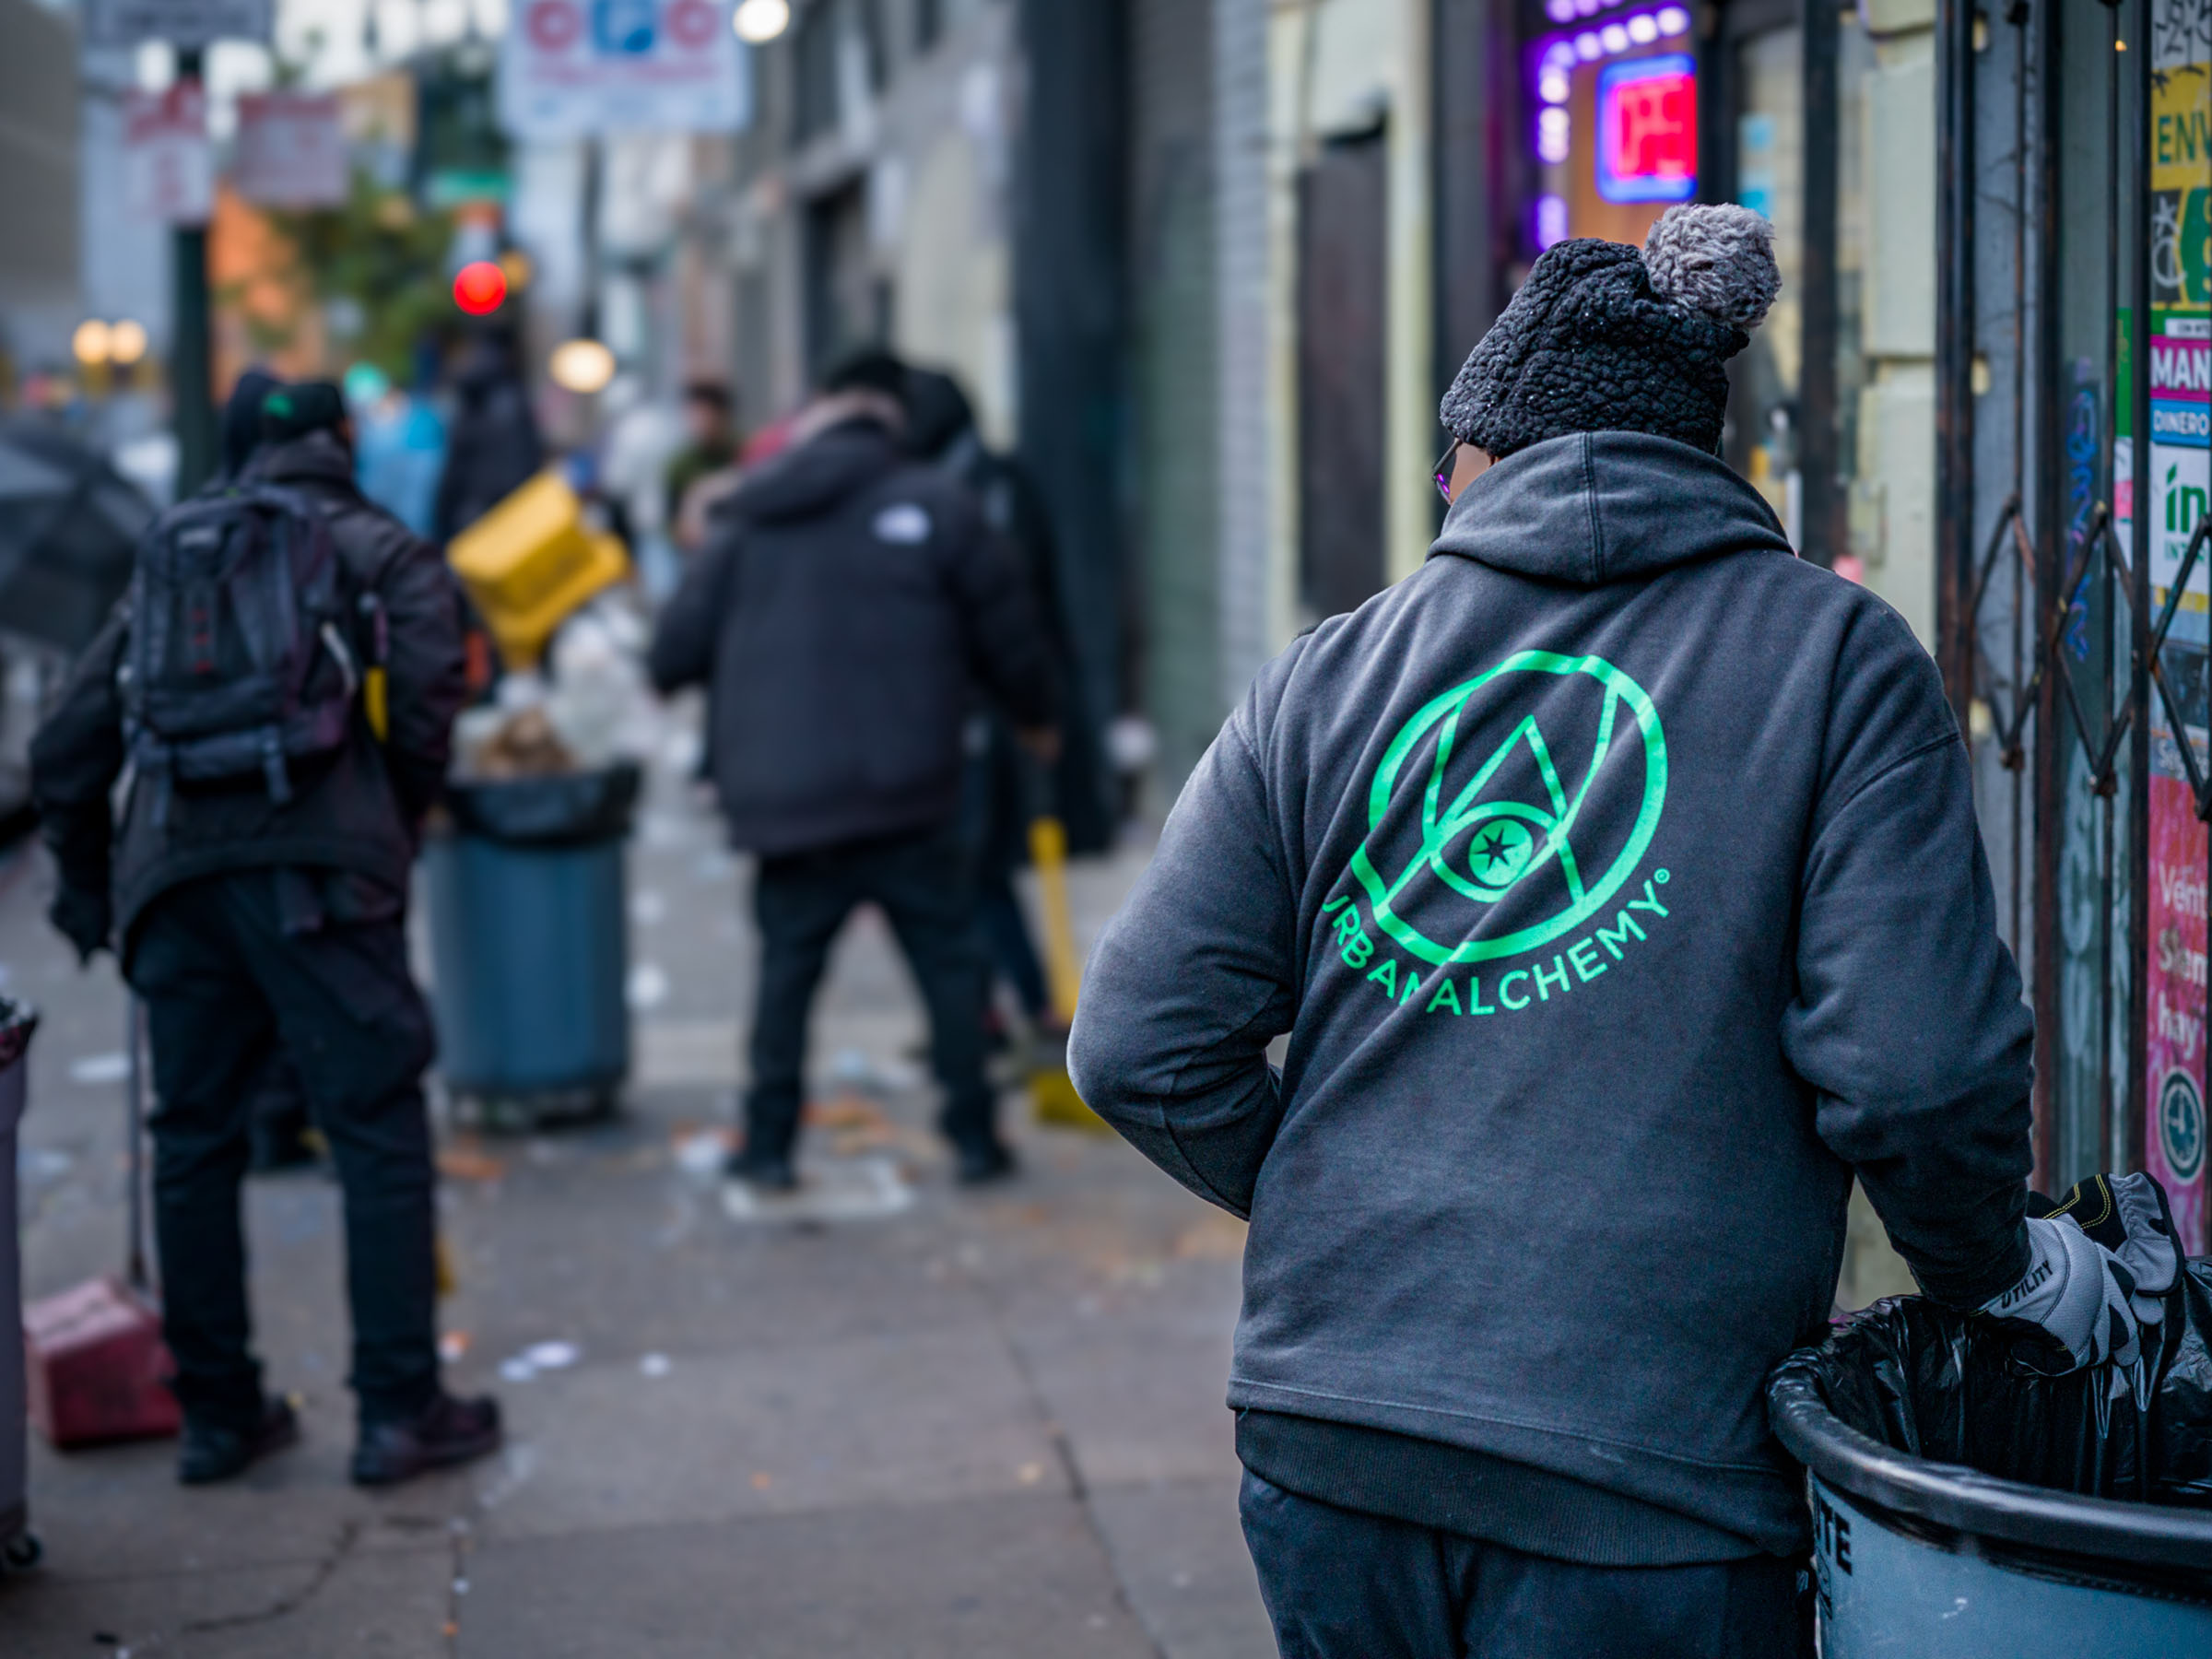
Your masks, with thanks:
M 1066 672 L 1068 637 L 1060 611 L 1060 568 L 1053 520 L 1029 469 L 991 451 L 975 429 L 975 407 L 953 376 L 909 367 L 905 380 L 907 447 L 958 478 L 975 498 L 984 526 L 1013 553 L 1029 582 L 1057 670 L 1062 723 L 1068 730 L 1073 675 Z M 1042 763 L 989 703 L 969 723 L 969 761 L 962 832 L 969 845 L 975 931 L 1022 1006 L 1031 1029 L 1057 1026 L 1044 982 L 1044 962 L 1029 931 L 1029 916 L 1013 889 L 1013 872 L 1029 863 L 1029 823 L 1046 810 Z

